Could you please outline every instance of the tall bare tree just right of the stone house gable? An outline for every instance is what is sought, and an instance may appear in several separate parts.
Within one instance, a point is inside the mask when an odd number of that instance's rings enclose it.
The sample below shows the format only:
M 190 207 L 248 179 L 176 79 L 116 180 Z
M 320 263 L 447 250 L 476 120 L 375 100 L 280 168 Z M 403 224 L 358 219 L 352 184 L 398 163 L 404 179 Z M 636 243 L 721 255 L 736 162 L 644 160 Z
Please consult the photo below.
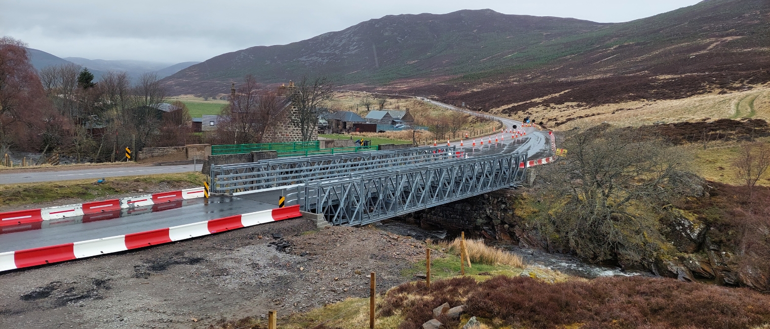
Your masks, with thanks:
M 291 92 L 292 106 L 296 107 L 292 124 L 300 128 L 303 141 L 310 141 L 313 131 L 316 131 L 318 117 L 326 111 L 323 105 L 333 96 L 332 82 L 323 76 L 309 78 L 303 75 Z

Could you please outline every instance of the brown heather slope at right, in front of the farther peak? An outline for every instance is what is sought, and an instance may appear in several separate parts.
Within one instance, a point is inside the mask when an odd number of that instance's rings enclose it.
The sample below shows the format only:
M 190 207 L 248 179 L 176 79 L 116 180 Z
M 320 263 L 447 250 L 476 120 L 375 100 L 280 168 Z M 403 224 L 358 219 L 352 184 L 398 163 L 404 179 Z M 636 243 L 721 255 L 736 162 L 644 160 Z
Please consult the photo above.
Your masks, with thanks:
M 501 67 L 408 92 L 517 113 L 742 91 L 770 81 L 768 30 L 770 2 L 711 0 L 551 43 L 554 52 L 582 49 L 540 68 Z M 483 78 L 495 84 L 479 88 Z

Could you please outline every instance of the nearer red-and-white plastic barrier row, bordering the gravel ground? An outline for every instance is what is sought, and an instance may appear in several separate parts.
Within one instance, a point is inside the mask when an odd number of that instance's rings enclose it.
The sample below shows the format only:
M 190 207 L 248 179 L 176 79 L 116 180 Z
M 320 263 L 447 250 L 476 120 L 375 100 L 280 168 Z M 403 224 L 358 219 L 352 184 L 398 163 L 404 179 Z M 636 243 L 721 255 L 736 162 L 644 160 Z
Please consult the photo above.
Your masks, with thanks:
M 8 251 L 0 253 L 0 271 L 8 271 L 15 268 L 28 268 L 30 266 L 69 261 L 77 258 L 87 258 L 98 256 L 100 254 L 112 254 L 119 251 L 149 247 L 156 244 L 165 244 L 172 241 L 196 238 L 202 235 L 215 234 L 234 230 L 236 228 L 244 228 L 269 223 L 271 221 L 298 218 L 301 216 L 300 206 L 293 205 L 285 208 L 256 211 L 249 214 L 236 214 L 225 218 L 200 221 L 198 223 L 179 225 L 172 228 L 161 228 L 158 230 L 79 241 L 69 244 L 57 244 L 49 247 Z

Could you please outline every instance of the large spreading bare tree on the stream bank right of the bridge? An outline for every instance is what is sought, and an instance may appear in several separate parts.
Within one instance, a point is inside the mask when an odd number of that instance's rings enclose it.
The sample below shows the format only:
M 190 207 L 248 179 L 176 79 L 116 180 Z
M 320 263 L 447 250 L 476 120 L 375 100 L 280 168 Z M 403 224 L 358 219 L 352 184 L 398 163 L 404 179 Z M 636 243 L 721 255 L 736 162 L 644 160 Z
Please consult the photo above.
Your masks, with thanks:
M 562 147 L 566 158 L 537 167 L 545 202 L 533 224 L 541 236 L 592 261 L 665 253 L 657 216 L 671 210 L 671 198 L 702 193 L 681 152 L 609 125 L 572 132 Z

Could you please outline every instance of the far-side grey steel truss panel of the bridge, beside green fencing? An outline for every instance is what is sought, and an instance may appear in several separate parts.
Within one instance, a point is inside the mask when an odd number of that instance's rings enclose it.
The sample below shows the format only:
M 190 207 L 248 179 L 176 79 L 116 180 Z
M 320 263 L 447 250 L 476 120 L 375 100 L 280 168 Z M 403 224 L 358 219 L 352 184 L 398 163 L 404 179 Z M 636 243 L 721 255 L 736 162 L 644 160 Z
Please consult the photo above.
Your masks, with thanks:
M 459 156 L 463 155 L 458 154 L 453 146 L 270 159 L 248 164 L 212 166 L 211 185 L 217 193 L 243 194 L 340 177 L 352 172 L 443 161 Z

